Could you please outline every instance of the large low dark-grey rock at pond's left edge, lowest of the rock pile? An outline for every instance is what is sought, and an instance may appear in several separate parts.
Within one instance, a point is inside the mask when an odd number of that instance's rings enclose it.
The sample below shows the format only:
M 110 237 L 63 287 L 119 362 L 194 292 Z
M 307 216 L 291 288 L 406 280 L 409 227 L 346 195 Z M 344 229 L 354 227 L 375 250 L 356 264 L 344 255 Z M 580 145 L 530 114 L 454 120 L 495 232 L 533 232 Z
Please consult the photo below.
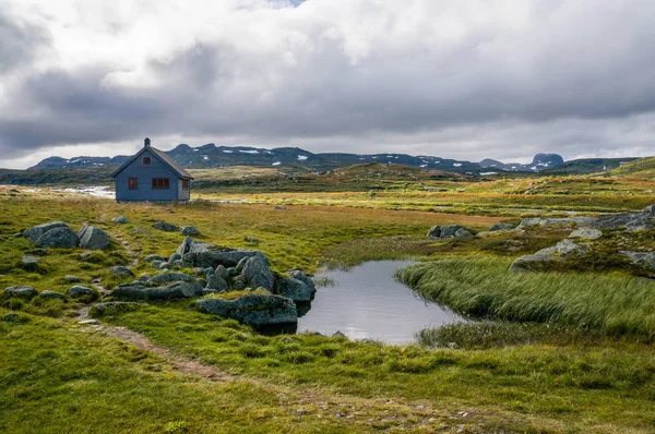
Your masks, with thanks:
M 234 318 L 253 327 L 298 322 L 296 304 L 284 297 L 248 294 L 236 300 L 216 298 L 195 302 L 202 313 Z

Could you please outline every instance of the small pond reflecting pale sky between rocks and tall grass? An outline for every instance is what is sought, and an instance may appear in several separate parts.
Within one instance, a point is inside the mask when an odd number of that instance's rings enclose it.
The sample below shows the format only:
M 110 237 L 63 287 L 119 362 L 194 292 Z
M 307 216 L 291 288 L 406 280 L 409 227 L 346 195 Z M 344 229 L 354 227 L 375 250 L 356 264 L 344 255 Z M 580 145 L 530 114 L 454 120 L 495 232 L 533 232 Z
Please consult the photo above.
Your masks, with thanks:
M 298 318 L 298 333 L 342 331 L 350 339 L 376 339 L 388 343 L 416 341 L 415 334 L 426 327 L 465 322 L 462 316 L 420 299 L 394 279 L 409 261 L 379 261 L 348 272 L 317 274 L 333 286 L 318 288 L 311 310 Z

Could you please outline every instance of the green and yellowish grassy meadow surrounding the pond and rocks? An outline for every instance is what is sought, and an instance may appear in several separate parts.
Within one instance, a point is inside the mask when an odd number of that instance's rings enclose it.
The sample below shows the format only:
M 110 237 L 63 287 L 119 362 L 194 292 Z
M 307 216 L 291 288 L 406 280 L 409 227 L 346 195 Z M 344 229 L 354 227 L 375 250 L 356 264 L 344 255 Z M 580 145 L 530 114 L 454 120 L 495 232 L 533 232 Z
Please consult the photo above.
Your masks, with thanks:
M 109 267 L 133 261 L 136 275 L 152 273 L 143 257 L 167 256 L 183 239 L 152 228 L 165 220 L 198 227 L 202 241 L 261 250 L 277 272 L 412 257 L 420 263 L 401 279 L 427 299 L 486 320 L 424 330 L 416 345 L 389 346 L 312 334 L 262 336 L 200 314 L 189 301 L 147 303 L 88 327 L 78 324 L 83 303 L 1 298 L 0 318 L 10 312 L 17 317 L 0 321 L 0 431 L 653 431 L 655 284 L 616 270 L 508 273 L 514 257 L 567 236 L 557 230 L 471 241 L 425 237 L 433 225 L 477 232 L 563 210 L 639 209 L 655 203 L 650 181 L 393 182 L 397 188 L 318 193 L 207 186 L 188 205 L 0 188 L 0 288 L 66 292 L 63 276 L 72 274 L 110 289 L 122 280 Z M 455 206 L 439 212 L 444 204 Z M 119 215 L 129 224 L 111 222 Z M 84 261 L 79 250 L 53 250 L 37 270 L 21 269 L 21 255 L 34 248 L 14 233 L 52 220 L 73 229 L 88 222 L 114 241 Z

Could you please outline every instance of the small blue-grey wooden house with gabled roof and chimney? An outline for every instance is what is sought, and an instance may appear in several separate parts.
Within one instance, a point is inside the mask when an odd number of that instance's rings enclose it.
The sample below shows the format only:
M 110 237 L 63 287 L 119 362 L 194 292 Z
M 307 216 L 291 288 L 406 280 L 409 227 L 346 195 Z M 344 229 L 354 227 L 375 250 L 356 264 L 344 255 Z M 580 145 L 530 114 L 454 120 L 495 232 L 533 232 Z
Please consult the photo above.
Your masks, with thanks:
M 143 148 L 118 168 L 116 201 L 186 202 L 191 197 L 191 180 L 180 165 L 145 138 Z

